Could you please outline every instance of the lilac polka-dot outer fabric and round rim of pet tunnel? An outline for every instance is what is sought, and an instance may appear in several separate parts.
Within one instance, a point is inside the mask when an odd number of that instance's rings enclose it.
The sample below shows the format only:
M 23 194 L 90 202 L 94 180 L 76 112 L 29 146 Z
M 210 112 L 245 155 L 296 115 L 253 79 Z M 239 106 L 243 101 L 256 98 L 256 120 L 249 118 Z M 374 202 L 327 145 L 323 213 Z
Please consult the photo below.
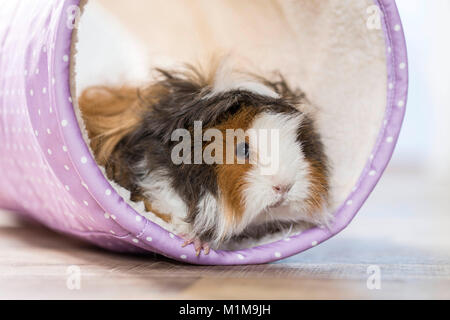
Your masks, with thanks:
M 275 261 L 315 246 L 344 229 L 387 166 L 403 121 L 408 62 L 400 17 L 392 0 L 383 12 L 388 98 L 385 124 L 373 157 L 330 230 L 311 229 L 289 239 L 234 252 L 196 257 L 192 246 L 137 214 L 115 192 L 90 155 L 70 100 L 70 13 L 79 0 L 8 2 L 0 22 L 0 207 L 48 227 L 123 252 L 156 252 L 205 265 Z M 5 141 L 5 143 L 3 143 Z M 287 241 L 288 240 L 288 241 Z

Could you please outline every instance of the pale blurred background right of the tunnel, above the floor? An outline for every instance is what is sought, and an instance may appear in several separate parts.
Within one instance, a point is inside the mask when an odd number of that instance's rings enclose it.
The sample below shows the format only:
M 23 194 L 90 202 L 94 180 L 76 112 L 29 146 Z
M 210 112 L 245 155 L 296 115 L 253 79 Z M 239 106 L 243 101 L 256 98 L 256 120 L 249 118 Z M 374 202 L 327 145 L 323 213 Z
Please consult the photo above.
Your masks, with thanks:
M 393 166 L 450 179 L 450 1 L 397 0 L 409 53 L 409 102 Z

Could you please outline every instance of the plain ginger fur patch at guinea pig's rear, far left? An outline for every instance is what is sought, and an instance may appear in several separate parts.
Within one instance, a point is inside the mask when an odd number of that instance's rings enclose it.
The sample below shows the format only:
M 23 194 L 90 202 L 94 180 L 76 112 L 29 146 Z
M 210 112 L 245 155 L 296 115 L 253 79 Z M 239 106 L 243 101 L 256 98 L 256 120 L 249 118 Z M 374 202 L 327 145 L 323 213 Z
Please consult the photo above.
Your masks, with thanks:
M 78 99 L 90 145 L 105 165 L 117 144 L 140 122 L 138 91 L 132 87 L 91 87 Z

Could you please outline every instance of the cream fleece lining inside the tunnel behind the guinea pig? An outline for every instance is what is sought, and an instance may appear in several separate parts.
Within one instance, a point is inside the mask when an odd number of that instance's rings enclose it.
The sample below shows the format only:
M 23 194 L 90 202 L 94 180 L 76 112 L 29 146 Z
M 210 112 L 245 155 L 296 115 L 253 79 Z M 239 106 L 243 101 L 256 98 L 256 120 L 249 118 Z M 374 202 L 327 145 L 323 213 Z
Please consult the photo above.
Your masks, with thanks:
M 74 94 L 93 84 L 141 83 L 153 66 L 203 63 L 217 54 L 238 56 L 261 73 L 279 70 L 318 108 L 335 210 L 355 186 L 384 118 L 385 40 L 382 29 L 367 26 L 373 4 L 90 0 L 78 31 Z

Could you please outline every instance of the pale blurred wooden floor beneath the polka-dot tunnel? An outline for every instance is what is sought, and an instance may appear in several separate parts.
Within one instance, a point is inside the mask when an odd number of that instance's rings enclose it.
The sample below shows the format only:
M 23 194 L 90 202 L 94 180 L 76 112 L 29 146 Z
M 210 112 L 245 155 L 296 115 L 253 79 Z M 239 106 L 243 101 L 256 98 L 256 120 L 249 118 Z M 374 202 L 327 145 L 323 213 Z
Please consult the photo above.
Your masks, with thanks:
M 444 187 L 413 171 L 390 171 L 344 232 L 303 254 L 257 266 L 199 267 L 114 254 L 1 212 L 0 298 L 449 299 Z M 73 265 L 81 271 L 80 290 L 67 286 Z M 366 284 L 374 265 L 380 290 Z

